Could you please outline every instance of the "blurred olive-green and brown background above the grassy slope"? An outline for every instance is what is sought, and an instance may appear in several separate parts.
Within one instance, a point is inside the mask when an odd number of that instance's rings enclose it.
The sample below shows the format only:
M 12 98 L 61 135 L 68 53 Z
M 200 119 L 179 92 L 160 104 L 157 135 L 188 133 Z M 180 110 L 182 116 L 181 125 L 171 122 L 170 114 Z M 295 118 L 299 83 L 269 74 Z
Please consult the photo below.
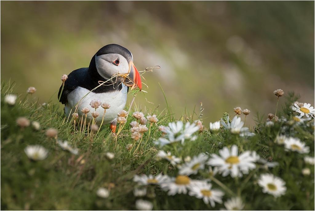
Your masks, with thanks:
M 235 106 L 274 113 L 279 88 L 314 105 L 313 1 L 1 1 L 1 81 L 35 86 L 41 103 L 111 43 L 139 71 L 161 66 L 144 75 L 141 108 L 166 107 L 158 83 L 177 118 L 203 102 L 207 127 Z

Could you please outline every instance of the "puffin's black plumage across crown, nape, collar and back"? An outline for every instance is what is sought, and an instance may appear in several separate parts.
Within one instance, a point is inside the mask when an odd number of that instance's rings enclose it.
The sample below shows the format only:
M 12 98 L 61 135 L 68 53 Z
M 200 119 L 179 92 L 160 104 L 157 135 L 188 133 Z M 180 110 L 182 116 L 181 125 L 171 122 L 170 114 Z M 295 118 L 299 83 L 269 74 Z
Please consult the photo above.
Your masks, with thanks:
M 73 70 L 68 75 L 68 79 L 65 81 L 65 87 L 60 97 L 60 102 L 62 104 L 66 104 L 68 102 L 67 100 L 68 95 L 70 94 L 70 92 L 75 90 L 78 86 L 91 91 L 92 89 L 94 89 L 96 86 L 99 85 L 98 81 L 108 80 L 108 79 L 104 79 L 97 72 L 96 65 L 95 65 L 95 56 L 100 56 L 100 55 L 109 54 L 109 53 L 118 53 L 124 56 L 128 62 L 132 61 L 132 55 L 130 51 L 124 48 L 123 46 L 120 46 L 117 44 L 105 45 L 100 50 L 98 50 L 96 54 L 92 57 L 89 67 Z M 61 88 L 62 88 L 62 85 L 60 86 L 58 97 L 60 95 Z M 120 91 L 122 88 L 123 86 L 120 82 L 112 84 L 112 81 L 108 81 L 106 85 L 102 85 L 98 87 L 97 89 L 93 90 L 93 92 L 103 93 L 103 92 L 117 91 L 117 90 Z

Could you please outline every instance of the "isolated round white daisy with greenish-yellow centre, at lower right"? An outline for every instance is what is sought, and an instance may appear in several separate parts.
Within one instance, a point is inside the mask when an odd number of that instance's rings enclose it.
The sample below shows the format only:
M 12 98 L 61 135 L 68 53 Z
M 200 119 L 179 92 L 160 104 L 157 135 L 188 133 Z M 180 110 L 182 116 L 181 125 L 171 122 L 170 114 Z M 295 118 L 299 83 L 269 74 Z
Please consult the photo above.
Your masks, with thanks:
M 270 173 L 262 174 L 258 180 L 258 185 L 263 189 L 262 192 L 269 193 L 274 197 L 284 195 L 287 188 L 285 187 L 285 182 Z

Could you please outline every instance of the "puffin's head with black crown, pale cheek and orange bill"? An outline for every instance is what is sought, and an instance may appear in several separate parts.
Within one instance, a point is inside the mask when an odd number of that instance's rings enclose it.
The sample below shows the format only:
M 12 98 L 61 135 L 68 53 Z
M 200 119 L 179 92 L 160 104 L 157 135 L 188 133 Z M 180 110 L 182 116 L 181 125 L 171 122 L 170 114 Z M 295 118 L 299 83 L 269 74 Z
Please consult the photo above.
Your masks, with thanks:
M 117 73 L 125 74 L 129 78 L 125 79 L 125 85 L 142 89 L 140 74 L 133 63 L 133 56 L 123 46 L 109 44 L 102 47 L 93 56 L 89 71 L 104 79 L 110 79 Z

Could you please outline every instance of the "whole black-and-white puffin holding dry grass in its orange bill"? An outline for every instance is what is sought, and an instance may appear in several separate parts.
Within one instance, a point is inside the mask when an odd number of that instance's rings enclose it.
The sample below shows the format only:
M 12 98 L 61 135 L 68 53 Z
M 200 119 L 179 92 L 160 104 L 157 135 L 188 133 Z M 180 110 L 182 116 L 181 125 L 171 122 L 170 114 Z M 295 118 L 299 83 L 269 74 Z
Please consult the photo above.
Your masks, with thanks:
M 126 77 L 118 77 L 117 74 Z M 103 82 L 106 83 L 102 84 Z M 99 87 L 93 90 L 97 86 Z M 65 105 L 66 116 L 69 116 L 70 112 L 74 112 L 77 103 L 91 91 L 78 104 L 79 117 L 85 115 L 82 108 L 88 107 L 91 109 L 87 114 L 88 118 L 93 118 L 91 113 L 95 108 L 91 108 L 89 104 L 92 100 L 108 103 L 110 108 L 106 109 L 103 124 L 110 123 L 110 128 L 115 133 L 117 113 L 126 105 L 129 87 L 142 90 L 140 74 L 134 65 L 132 53 L 121 45 L 108 44 L 95 53 L 89 67 L 73 70 L 68 75 L 62 92 L 62 85 L 60 86 L 58 97 Z M 100 124 L 104 109 L 100 106 L 96 111 L 100 113 L 95 119 L 96 124 Z

